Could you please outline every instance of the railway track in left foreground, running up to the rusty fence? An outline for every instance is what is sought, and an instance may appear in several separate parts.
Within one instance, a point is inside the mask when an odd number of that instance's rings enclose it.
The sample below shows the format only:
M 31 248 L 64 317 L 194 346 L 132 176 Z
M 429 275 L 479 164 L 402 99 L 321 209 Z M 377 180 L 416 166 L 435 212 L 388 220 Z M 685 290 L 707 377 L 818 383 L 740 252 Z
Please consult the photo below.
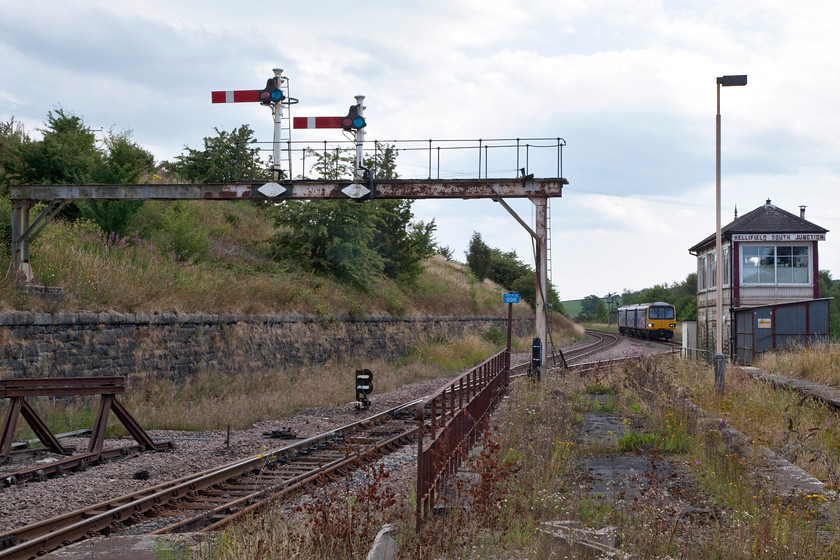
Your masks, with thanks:
M 0 535 L 0 558 L 30 559 L 96 534 L 212 531 L 324 477 L 372 462 L 416 436 L 419 400 L 152 488 Z M 163 520 L 163 521 L 161 521 Z

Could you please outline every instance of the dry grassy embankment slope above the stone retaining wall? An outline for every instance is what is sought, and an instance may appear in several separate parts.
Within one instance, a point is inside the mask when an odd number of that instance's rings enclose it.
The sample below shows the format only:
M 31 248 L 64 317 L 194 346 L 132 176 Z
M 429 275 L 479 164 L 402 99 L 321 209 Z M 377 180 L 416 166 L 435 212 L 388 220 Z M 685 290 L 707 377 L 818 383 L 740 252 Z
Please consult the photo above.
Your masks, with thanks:
M 164 215 L 167 202 L 149 201 L 141 221 Z M 266 209 L 244 202 L 179 202 L 201 232 L 206 248 L 184 259 L 165 237 L 108 239 L 95 226 L 52 222 L 33 243 L 39 282 L 64 289 L 63 303 L 24 296 L 0 280 L 0 308 L 15 310 L 204 313 L 303 313 L 318 315 L 501 315 L 502 289 L 475 282 L 466 267 L 435 256 L 411 285 L 381 279 L 369 292 L 331 278 L 289 268 L 269 256 L 274 226 Z M 145 218 L 144 218 L 145 216 Z M 8 255 L 0 267 L 8 266 Z M 531 313 L 514 306 L 517 316 Z

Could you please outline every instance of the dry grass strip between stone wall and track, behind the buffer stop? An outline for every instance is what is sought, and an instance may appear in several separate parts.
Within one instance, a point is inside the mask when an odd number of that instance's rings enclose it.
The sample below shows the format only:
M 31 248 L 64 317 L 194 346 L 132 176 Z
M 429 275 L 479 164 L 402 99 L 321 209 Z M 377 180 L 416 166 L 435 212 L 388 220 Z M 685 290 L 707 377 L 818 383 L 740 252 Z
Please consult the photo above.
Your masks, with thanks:
M 126 394 L 120 400 L 146 429 L 244 429 L 307 408 L 354 401 L 354 372 L 361 367 L 375 372 L 377 393 L 386 393 L 408 384 L 453 376 L 498 351 L 493 342 L 468 336 L 419 346 L 397 362 L 353 359 L 235 375 L 201 371 L 182 382 L 143 372 L 129 378 Z M 90 427 L 96 410 L 92 398 L 59 406 L 53 399 L 33 402 L 56 433 Z M 28 425 L 21 423 L 17 439 L 31 437 L 34 435 Z

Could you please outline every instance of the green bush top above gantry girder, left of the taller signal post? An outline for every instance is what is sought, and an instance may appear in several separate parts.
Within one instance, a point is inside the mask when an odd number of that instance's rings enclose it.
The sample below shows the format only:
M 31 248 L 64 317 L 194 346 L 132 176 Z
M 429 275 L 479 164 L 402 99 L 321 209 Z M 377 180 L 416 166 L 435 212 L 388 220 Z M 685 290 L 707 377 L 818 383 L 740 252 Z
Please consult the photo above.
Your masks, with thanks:
M 204 149 L 185 146 L 186 154 L 167 163 L 167 167 L 186 181 L 197 183 L 227 183 L 235 181 L 268 180 L 269 166 L 260 159 L 254 147 L 254 131 L 244 124 L 230 132 L 214 129 L 215 137 L 204 138 Z

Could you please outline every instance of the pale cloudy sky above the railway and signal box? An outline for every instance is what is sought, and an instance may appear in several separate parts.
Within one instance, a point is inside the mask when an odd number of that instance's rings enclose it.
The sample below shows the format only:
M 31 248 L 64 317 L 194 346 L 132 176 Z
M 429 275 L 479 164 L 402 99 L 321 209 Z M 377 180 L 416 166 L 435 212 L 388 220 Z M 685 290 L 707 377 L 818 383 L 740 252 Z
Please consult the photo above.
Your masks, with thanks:
M 270 146 L 267 108 L 210 92 L 262 89 L 282 68 L 292 116 L 340 116 L 365 95 L 369 142 L 563 138 L 550 268 L 570 300 L 695 271 L 688 249 L 715 229 L 715 78 L 746 74 L 721 90 L 723 223 L 767 199 L 805 205 L 829 230 L 820 268 L 840 277 L 837 21 L 828 0 L 0 0 L 0 120 L 37 138 L 60 108 L 132 131 L 158 161 L 243 124 Z M 528 171 L 556 177 L 554 151 L 535 147 Z M 477 175 L 475 151 L 448 153 L 444 175 Z M 496 153 L 489 176 L 515 176 L 515 151 Z M 427 154 L 397 160 L 401 177 L 428 176 Z M 533 222 L 530 201 L 508 203 Z M 530 236 L 497 203 L 413 211 L 457 260 L 478 232 L 533 266 Z

